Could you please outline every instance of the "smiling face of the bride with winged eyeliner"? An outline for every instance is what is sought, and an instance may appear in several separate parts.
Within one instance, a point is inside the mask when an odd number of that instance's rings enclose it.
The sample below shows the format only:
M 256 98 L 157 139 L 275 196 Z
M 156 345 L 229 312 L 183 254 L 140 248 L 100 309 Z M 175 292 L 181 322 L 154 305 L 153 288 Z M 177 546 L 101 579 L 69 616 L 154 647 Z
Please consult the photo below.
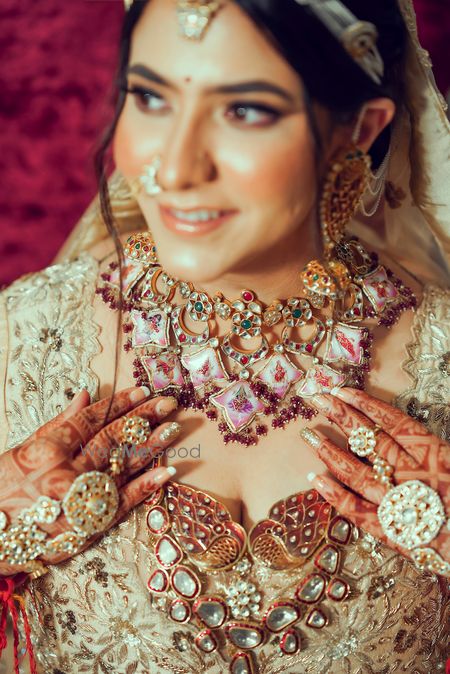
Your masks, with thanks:
M 302 85 L 250 18 L 226 1 L 203 39 L 188 40 L 175 2 L 151 0 L 133 33 L 129 67 L 138 64 L 151 72 L 128 74 L 141 94 L 127 96 L 114 157 L 131 180 L 161 156 L 163 191 L 138 202 L 166 271 L 214 281 L 270 262 L 293 240 L 300 250 L 316 199 Z M 227 217 L 183 221 L 192 210 Z

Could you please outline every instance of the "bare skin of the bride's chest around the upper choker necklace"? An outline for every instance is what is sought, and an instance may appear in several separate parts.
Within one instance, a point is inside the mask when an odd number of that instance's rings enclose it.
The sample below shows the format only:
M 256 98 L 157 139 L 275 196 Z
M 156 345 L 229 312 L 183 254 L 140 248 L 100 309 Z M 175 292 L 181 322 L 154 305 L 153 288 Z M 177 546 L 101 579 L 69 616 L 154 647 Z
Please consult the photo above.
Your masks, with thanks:
M 114 376 L 117 314 L 95 301 L 95 316 L 101 326 L 101 351 L 91 362 L 100 382 L 100 397 L 109 395 Z M 410 340 L 412 312 L 405 312 L 394 329 L 376 328 L 372 348 L 372 367 L 367 391 L 386 401 L 407 388 L 408 375 L 401 364 Z M 121 332 L 120 339 L 125 338 Z M 117 390 L 134 385 L 133 352 L 119 351 Z M 270 419 L 270 418 L 269 418 Z M 197 411 L 178 409 L 170 416 L 182 426 L 181 434 L 165 454 L 166 465 L 177 468 L 177 480 L 210 493 L 229 510 L 234 521 L 247 530 L 263 519 L 276 501 L 289 494 L 307 490 L 309 472 L 320 474 L 325 466 L 302 441 L 299 432 L 305 426 L 318 425 L 330 437 L 345 446 L 343 434 L 332 428 L 322 415 L 310 422 L 298 418 L 284 429 L 269 426 L 267 436 L 255 446 L 225 445 L 217 424 Z

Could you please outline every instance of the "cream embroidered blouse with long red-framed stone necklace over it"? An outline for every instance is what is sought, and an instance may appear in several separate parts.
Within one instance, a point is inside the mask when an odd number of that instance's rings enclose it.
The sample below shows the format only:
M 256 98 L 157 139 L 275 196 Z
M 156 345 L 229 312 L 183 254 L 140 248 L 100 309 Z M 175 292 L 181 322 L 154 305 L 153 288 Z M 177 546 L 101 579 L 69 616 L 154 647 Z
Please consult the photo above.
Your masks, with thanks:
M 0 294 L 0 451 L 61 412 L 75 389 L 96 399 L 97 274 L 83 253 Z M 445 438 L 449 325 L 449 293 L 428 286 L 403 366 L 412 384 L 394 401 Z M 23 598 L 39 674 L 445 668 L 442 579 L 350 526 L 314 490 L 287 495 L 245 532 L 206 492 L 169 482 L 30 581 Z M 10 657 L 0 673 L 12 671 Z

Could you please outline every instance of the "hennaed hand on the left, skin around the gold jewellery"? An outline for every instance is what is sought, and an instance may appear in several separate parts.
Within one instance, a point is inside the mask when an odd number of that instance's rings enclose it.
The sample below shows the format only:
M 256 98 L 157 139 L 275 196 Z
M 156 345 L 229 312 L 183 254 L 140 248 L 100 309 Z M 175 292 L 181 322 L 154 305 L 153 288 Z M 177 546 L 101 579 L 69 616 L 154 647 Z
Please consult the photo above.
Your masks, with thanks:
M 8 522 L 24 508 L 30 507 L 40 495 L 61 500 L 74 479 L 91 470 L 106 471 L 109 468 L 110 450 L 119 446 L 124 415 L 132 412 L 148 419 L 151 435 L 145 443 L 145 452 L 136 451 L 125 456 L 124 469 L 115 478 L 119 488 L 120 502 L 115 519 L 110 527 L 119 522 L 132 508 L 158 489 L 171 475 L 167 468 L 147 470 L 138 477 L 135 474 L 145 468 L 179 432 L 179 425 L 160 424 L 173 411 L 177 402 L 170 396 L 158 396 L 145 400 L 148 390 L 130 388 L 115 394 L 109 414 L 109 423 L 104 425 L 109 398 L 89 405 L 89 393 L 82 391 L 69 407 L 39 428 L 21 445 L 0 455 L 0 510 L 8 516 Z M 172 427 L 170 437 L 163 440 L 162 431 Z M 178 427 L 178 428 L 177 428 Z M 51 536 L 71 530 L 64 515 L 53 524 L 39 527 Z M 85 549 L 102 532 L 91 536 Z M 80 550 L 78 550 L 80 551 Z M 51 557 L 39 557 L 44 562 L 58 563 L 70 554 L 59 553 Z M 22 570 L 0 562 L 0 575 L 11 575 Z

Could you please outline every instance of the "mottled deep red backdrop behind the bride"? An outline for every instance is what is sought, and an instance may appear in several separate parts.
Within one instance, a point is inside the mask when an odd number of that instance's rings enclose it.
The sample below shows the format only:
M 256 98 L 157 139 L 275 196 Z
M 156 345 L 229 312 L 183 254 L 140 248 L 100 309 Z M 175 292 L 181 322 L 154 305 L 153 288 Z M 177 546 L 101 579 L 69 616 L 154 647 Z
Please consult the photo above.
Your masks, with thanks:
M 416 0 L 441 90 L 448 0 Z M 0 286 L 48 265 L 97 192 L 122 0 L 0 1 Z

